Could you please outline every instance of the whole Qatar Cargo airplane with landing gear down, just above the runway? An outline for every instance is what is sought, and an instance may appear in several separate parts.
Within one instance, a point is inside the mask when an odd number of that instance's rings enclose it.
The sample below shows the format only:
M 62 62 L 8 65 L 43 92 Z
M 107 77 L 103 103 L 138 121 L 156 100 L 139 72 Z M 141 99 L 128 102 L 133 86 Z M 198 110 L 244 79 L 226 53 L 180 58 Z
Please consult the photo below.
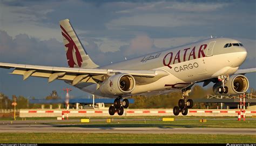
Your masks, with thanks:
M 123 115 L 129 107 L 131 95 L 182 93 L 173 114 L 187 115 L 193 100 L 187 99 L 191 87 L 199 82 L 203 86 L 214 83 L 213 91 L 219 95 L 242 94 L 248 90 L 245 73 L 256 68 L 238 69 L 245 61 L 247 51 L 239 40 L 209 38 L 195 43 L 158 51 L 141 57 L 125 59 L 98 66 L 85 51 L 69 19 L 60 20 L 63 43 L 69 67 L 9 64 L 0 62 L 0 68 L 14 68 L 11 74 L 56 79 L 82 91 L 116 98 L 109 114 Z

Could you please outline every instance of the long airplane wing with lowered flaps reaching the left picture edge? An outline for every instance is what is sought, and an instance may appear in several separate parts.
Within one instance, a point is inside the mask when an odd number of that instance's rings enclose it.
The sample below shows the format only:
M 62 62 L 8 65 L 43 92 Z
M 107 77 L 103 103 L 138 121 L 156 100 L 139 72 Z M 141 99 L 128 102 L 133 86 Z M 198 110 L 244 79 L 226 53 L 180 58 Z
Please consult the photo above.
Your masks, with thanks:
M 23 80 L 32 77 L 48 78 L 48 82 L 56 79 L 72 81 L 72 85 L 78 82 L 98 83 L 104 81 L 107 75 L 114 73 L 127 73 L 135 78 L 156 78 L 159 79 L 167 75 L 162 70 L 125 70 L 125 69 L 98 69 L 98 68 L 70 68 L 37 66 L 24 64 L 9 64 L 0 62 L 0 68 L 15 68 L 11 74 L 23 75 Z

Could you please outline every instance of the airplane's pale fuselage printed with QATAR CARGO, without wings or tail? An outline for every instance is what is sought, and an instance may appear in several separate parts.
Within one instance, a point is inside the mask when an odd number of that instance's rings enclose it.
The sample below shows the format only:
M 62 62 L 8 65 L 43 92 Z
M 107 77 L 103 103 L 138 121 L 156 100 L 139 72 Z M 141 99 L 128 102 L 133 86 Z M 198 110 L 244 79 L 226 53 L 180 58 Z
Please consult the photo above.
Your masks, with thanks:
M 168 93 L 196 81 L 235 73 L 247 52 L 242 46 L 224 48 L 227 43 L 240 42 L 229 38 L 206 39 L 98 68 L 162 69 L 169 75 L 150 84 L 136 85 L 130 95 Z M 82 83 L 76 87 L 91 94 L 108 96 L 100 93 L 96 84 Z

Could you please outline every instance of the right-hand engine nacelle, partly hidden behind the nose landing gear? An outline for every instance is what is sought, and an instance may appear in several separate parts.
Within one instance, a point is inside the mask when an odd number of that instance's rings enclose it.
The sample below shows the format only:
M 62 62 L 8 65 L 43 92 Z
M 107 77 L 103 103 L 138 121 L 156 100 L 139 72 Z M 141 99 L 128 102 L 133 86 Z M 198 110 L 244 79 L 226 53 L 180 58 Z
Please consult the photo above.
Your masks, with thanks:
M 214 84 L 213 92 L 215 94 L 220 94 L 218 91 L 220 86 L 222 86 L 221 82 Z M 228 88 L 228 92 L 225 95 L 242 94 L 248 90 L 249 81 L 244 75 L 234 74 L 230 76 L 230 79 L 226 82 L 225 86 Z M 220 95 L 224 95 L 224 93 Z

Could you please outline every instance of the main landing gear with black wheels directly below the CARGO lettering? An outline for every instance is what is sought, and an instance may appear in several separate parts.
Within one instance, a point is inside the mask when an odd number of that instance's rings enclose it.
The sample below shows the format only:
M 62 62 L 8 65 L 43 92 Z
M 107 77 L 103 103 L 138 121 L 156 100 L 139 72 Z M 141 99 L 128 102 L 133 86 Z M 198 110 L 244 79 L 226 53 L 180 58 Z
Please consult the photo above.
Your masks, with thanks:
M 188 93 L 191 92 L 191 89 L 182 91 L 182 99 L 179 100 L 178 102 L 178 106 L 173 108 L 173 114 L 174 115 L 179 115 L 179 113 L 181 113 L 182 115 L 187 115 L 188 113 L 188 108 L 192 108 L 193 107 L 193 100 L 192 99 L 188 99 L 186 100 L 186 97 L 188 96 Z

